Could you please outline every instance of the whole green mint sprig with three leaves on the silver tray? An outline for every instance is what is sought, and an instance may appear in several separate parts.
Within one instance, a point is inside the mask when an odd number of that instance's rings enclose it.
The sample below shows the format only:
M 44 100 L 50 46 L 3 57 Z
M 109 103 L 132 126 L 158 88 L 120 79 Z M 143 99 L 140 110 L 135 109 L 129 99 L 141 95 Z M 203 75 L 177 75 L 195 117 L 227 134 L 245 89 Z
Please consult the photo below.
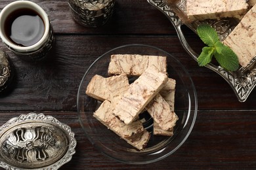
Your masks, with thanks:
M 200 56 L 198 56 L 198 64 L 200 66 L 210 63 L 214 56 L 219 65 L 224 69 L 228 71 L 236 71 L 238 69 L 238 56 L 220 41 L 213 27 L 208 24 L 202 24 L 198 26 L 196 31 L 200 39 L 207 44 L 207 46 L 203 47 Z

